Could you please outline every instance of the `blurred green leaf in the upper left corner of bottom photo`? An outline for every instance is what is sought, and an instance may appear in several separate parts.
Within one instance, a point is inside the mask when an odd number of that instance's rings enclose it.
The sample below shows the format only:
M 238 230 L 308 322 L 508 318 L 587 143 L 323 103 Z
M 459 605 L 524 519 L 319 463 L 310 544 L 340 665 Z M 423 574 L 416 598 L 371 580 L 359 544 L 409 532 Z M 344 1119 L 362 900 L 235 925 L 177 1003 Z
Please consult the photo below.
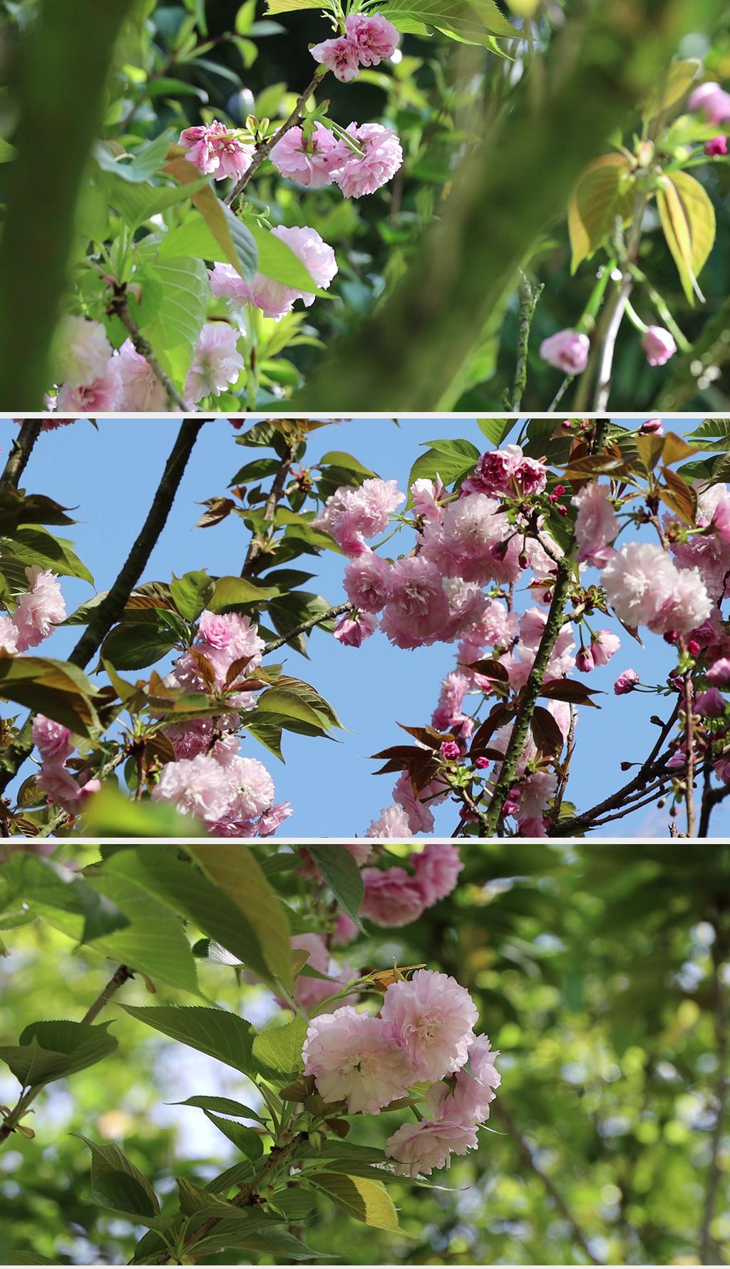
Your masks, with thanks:
M 83 916 L 81 943 L 129 925 L 129 917 L 116 904 L 96 893 L 77 873 L 51 859 L 18 853 L 1 872 L 10 884 L 10 895 Z

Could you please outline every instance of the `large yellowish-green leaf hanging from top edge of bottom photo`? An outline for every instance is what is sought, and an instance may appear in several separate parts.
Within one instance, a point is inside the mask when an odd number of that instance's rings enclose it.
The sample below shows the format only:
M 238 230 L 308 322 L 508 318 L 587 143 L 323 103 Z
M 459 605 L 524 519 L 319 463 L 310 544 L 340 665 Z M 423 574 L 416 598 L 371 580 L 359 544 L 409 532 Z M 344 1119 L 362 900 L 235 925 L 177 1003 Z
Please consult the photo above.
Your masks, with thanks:
M 185 848 L 207 877 L 241 912 L 260 947 L 269 976 L 293 991 L 291 930 L 278 895 L 251 851 L 240 843 L 201 843 Z M 213 931 L 212 938 L 217 938 Z M 223 945 L 226 944 L 222 939 Z M 229 950 L 234 950 L 229 945 Z

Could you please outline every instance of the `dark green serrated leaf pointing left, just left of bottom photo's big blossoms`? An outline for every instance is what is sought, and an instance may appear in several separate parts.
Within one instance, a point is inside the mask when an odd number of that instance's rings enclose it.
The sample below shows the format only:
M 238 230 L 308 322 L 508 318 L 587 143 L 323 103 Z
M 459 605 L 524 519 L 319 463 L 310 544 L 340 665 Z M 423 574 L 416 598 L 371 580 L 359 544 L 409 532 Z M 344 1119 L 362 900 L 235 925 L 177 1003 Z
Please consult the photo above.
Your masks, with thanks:
M 250 1079 L 258 1075 L 253 1058 L 251 1024 L 225 1009 L 203 1005 L 122 1005 L 126 1013 L 147 1027 L 207 1053 Z

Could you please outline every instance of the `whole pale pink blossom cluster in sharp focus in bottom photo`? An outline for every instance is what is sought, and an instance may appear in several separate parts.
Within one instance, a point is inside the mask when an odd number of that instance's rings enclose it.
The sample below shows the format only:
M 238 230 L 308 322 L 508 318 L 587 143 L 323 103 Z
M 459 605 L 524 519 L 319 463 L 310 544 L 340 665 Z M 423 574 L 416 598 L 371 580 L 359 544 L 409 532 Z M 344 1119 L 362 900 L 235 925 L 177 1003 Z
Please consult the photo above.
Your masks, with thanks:
M 377 1016 L 344 1005 L 320 1014 L 307 1028 L 305 1075 L 325 1101 L 347 1104 L 348 1114 L 378 1114 L 428 1084 L 429 1118 L 404 1124 L 385 1145 L 396 1171 L 430 1175 L 452 1154 L 477 1146 L 500 1084 L 486 1036 L 475 1036 L 477 1009 L 456 978 L 416 970 L 391 983 Z

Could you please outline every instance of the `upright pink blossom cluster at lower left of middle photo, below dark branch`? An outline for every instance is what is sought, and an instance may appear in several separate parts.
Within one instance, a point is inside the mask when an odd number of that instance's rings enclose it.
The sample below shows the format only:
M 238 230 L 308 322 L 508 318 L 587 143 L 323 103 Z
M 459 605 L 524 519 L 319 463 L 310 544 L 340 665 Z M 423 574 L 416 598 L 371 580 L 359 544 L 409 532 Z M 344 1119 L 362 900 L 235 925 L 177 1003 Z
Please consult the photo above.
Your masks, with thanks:
M 165 684 L 187 692 L 208 690 L 203 661 L 213 687 L 222 690 L 231 666 L 244 662 L 236 678 L 245 678 L 260 665 L 263 648 L 249 617 L 204 610 L 192 651 L 178 657 Z M 274 782 L 263 763 L 239 754 L 236 730 L 240 714 L 255 706 L 254 693 L 234 692 L 229 704 L 225 716 L 165 728 L 175 761 L 163 766 L 152 798 L 194 816 L 212 836 L 267 838 L 292 811 L 287 802 L 274 803 Z

